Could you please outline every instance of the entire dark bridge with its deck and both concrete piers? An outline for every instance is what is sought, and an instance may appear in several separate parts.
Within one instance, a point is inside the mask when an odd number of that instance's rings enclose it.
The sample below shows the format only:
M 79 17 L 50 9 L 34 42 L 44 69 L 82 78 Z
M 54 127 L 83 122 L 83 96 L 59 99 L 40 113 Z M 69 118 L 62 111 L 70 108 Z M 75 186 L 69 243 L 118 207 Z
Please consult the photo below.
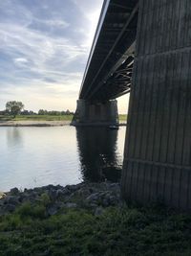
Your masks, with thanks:
M 104 1 L 75 123 L 117 124 L 130 90 L 121 192 L 191 210 L 191 1 Z

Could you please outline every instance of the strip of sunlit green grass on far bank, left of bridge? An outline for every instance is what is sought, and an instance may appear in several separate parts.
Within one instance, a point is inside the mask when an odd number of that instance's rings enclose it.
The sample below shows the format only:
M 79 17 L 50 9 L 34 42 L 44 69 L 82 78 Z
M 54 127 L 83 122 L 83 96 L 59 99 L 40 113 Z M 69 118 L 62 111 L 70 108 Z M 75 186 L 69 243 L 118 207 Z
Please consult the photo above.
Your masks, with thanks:
M 73 115 L 17 115 L 13 116 L 0 116 L 0 121 L 72 121 Z

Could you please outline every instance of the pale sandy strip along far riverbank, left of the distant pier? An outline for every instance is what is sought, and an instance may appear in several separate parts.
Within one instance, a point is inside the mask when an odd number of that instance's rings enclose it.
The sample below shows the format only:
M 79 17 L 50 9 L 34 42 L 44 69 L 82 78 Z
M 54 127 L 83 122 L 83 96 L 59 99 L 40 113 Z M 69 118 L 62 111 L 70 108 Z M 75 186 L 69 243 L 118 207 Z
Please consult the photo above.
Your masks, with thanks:
M 0 121 L 0 127 L 63 127 L 71 121 Z

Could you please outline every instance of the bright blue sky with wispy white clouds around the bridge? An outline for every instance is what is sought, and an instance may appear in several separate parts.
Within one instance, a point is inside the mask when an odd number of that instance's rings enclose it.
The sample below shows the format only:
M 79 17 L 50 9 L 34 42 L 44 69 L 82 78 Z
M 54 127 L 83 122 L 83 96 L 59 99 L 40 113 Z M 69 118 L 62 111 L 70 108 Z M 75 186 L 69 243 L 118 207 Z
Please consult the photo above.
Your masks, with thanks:
M 103 0 L 0 0 L 0 109 L 74 111 Z M 118 100 L 126 113 L 128 96 Z

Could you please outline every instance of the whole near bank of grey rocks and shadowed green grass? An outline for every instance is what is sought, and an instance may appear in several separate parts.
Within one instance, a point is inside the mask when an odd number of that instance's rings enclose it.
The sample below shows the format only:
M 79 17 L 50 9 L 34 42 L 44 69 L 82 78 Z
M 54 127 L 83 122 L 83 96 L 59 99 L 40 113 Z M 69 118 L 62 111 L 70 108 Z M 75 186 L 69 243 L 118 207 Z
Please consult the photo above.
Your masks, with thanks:
M 191 255 L 191 215 L 125 204 L 118 183 L 48 185 L 0 199 L 0 255 Z

